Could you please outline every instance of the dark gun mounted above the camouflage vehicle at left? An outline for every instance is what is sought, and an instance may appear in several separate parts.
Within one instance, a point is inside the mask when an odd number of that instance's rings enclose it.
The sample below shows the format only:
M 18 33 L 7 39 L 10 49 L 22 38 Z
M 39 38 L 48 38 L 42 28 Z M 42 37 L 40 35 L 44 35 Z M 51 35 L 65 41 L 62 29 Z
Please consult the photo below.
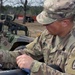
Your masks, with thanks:
M 25 36 L 29 35 L 29 31 L 27 26 L 23 26 L 19 23 L 14 22 L 15 18 L 12 19 L 9 17 L 9 15 L 7 16 L 6 20 L 4 21 L 4 25 L 8 26 L 8 31 L 10 31 L 11 33 L 14 33 L 17 35 L 17 31 L 18 30 L 22 30 L 25 32 Z

